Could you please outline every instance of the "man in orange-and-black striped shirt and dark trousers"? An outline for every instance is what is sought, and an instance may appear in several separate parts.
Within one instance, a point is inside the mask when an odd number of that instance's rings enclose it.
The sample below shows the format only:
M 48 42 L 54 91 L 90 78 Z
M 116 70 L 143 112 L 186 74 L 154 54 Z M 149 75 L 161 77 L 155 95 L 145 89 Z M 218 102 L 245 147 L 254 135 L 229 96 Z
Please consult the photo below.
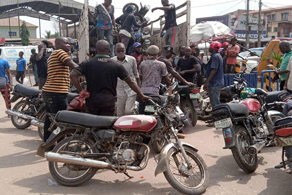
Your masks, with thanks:
M 41 52 L 43 47 L 41 47 Z M 74 69 L 77 64 L 68 56 L 70 51 L 69 40 L 65 37 L 55 39 L 55 50 L 48 59 L 48 77 L 42 88 L 42 95 L 46 104 L 46 112 L 56 114 L 60 110 L 67 109 L 67 94 L 70 87 L 69 68 Z M 44 123 L 44 141 L 50 137 L 51 132 L 49 116 Z

